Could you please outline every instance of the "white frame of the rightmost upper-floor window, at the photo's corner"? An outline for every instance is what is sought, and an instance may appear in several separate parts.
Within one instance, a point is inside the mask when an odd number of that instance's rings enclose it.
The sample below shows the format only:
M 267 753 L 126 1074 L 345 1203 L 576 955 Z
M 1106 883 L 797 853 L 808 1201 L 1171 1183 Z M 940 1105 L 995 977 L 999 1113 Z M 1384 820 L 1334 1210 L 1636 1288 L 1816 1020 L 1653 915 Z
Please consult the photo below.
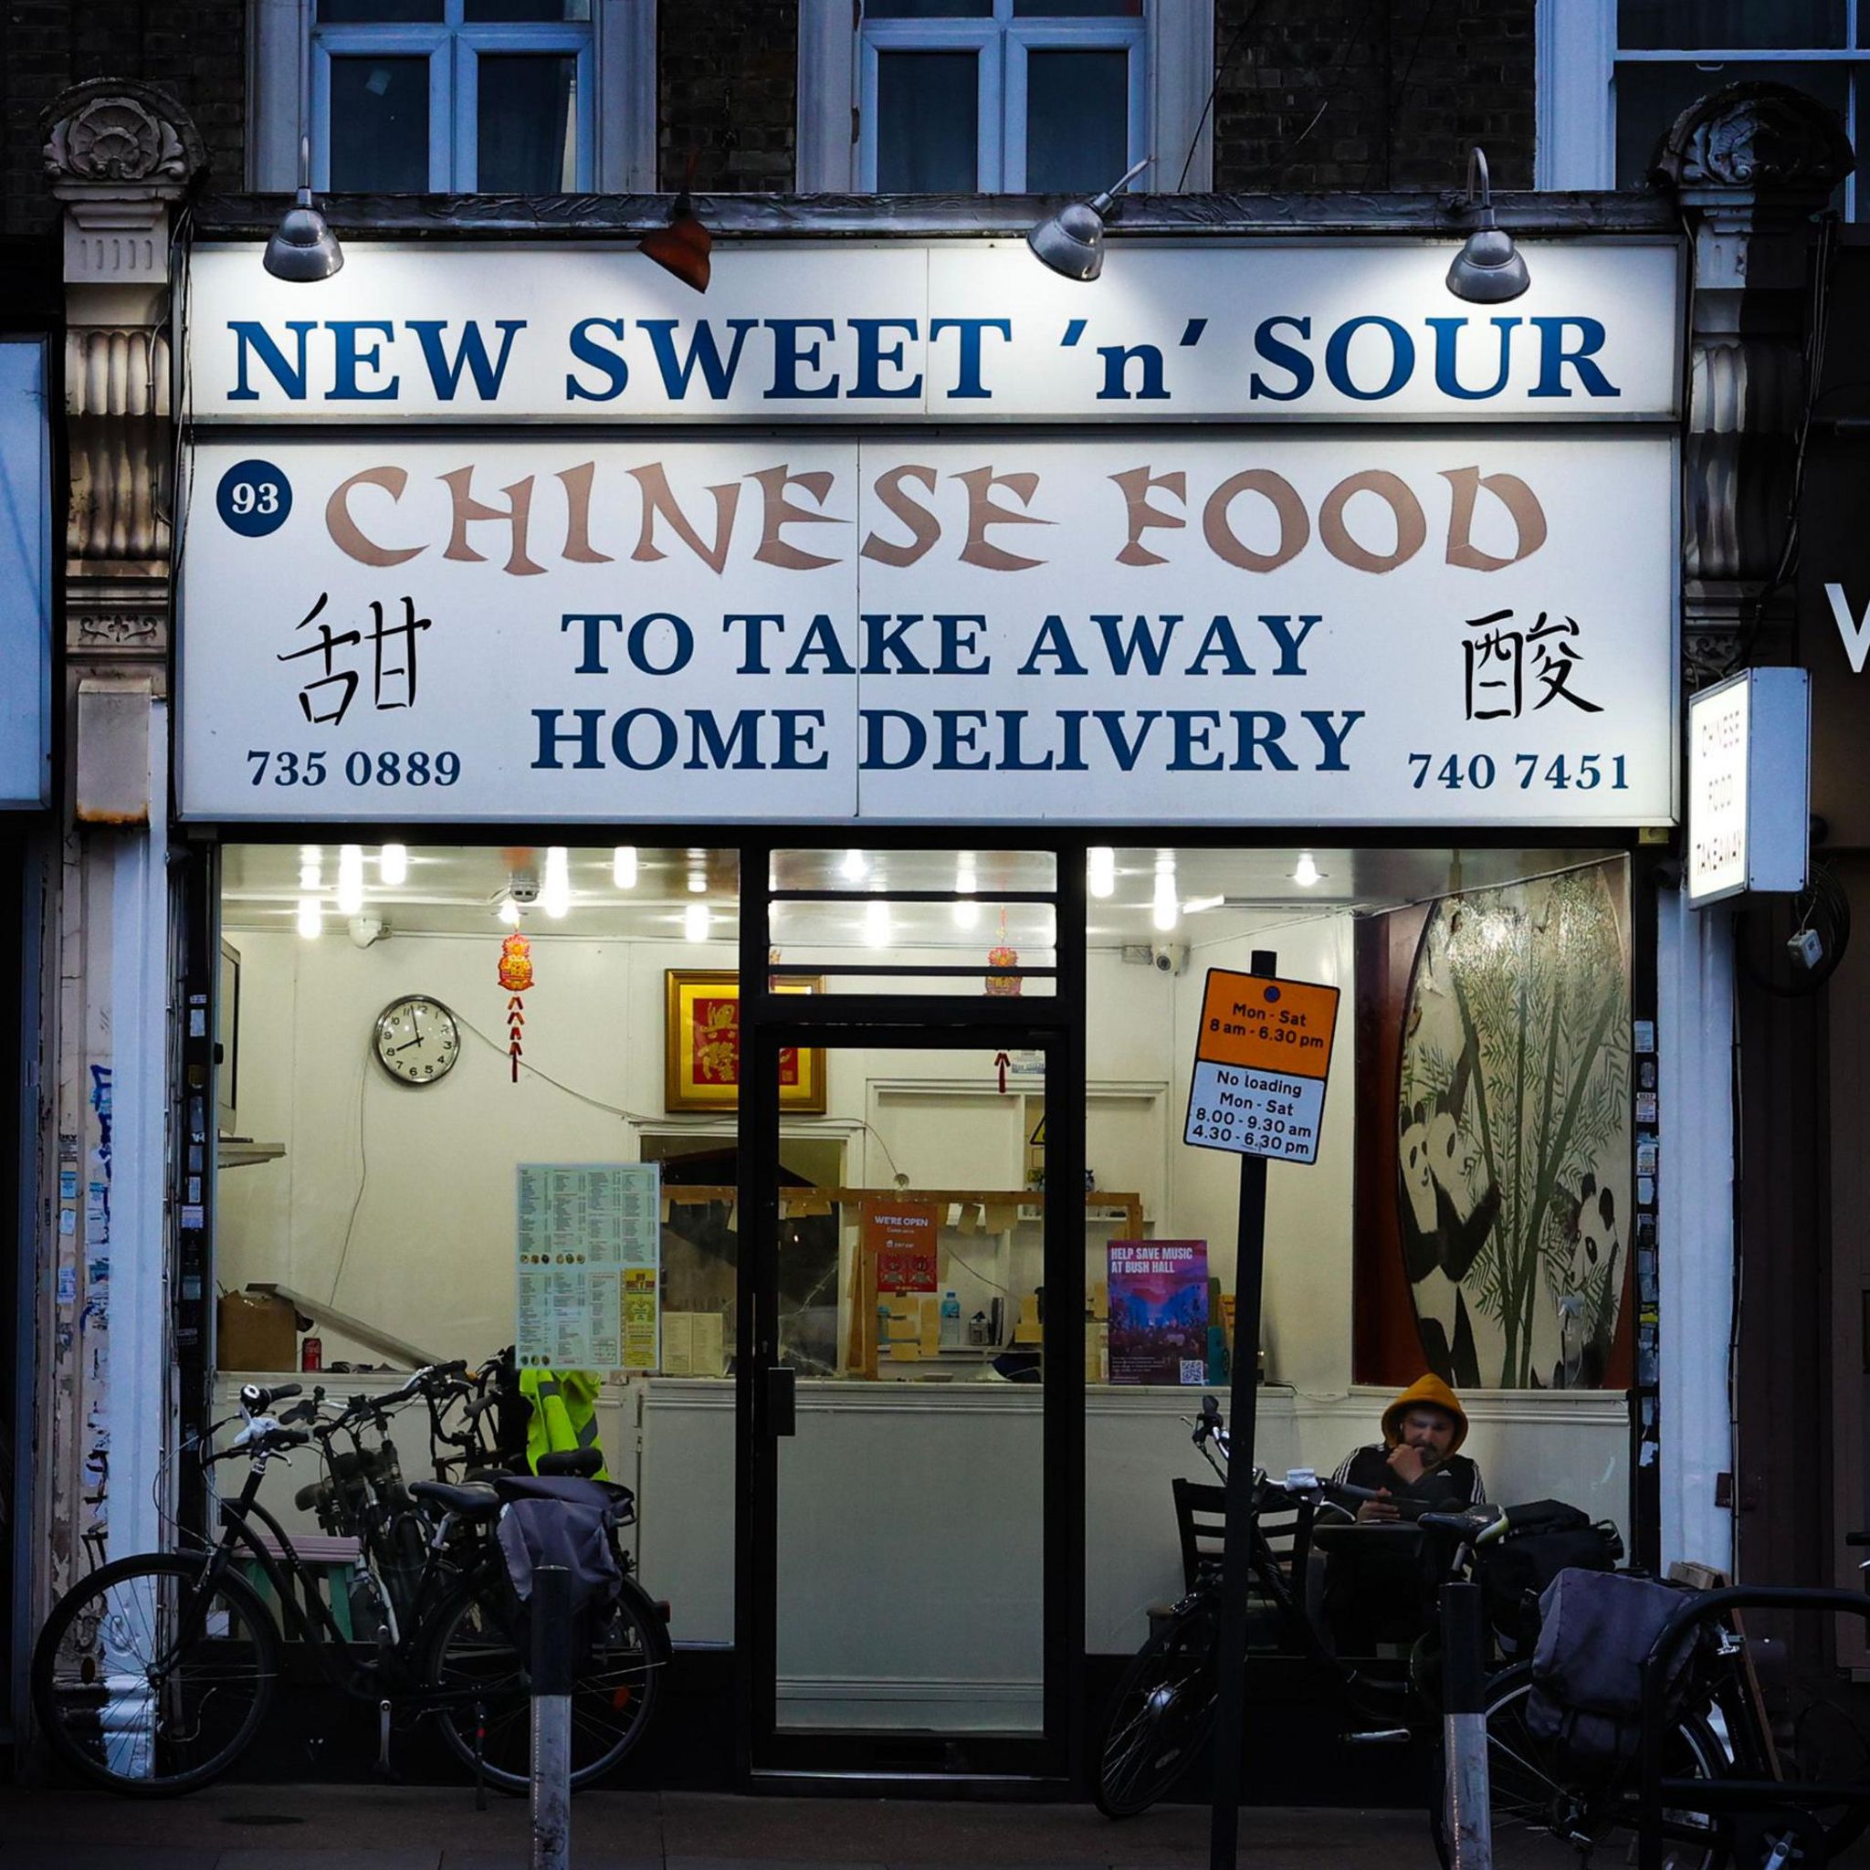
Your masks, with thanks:
M 1870 107 L 1870 45 L 1859 45 L 1870 0 L 1844 0 L 1836 47 L 1631 47 L 1618 43 L 1618 0 L 1567 0 L 1537 11 L 1537 151 L 1541 189 L 1614 189 L 1618 150 L 1618 73 L 1625 65 L 1844 65 L 1844 131 L 1857 146 Z M 1857 67 L 1857 69 L 1849 69 Z M 1709 71 L 1709 90 L 1720 73 Z M 1844 219 L 1859 213 L 1857 176 L 1844 183 Z

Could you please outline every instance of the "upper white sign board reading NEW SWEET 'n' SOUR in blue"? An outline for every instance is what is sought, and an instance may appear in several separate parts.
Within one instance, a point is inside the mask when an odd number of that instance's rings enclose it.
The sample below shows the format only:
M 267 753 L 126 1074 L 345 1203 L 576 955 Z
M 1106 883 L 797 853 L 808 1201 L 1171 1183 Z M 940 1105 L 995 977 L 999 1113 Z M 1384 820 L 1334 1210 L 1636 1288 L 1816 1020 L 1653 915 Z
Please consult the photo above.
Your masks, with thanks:
M 350 239 L 288 284 L 194 251 L 196 423 L 1627 421 L 1679 408 L 1679 245 L 1524 241 L 1466 305 L 1447 239 L 731 245 L 707 299 L 630 247 Z

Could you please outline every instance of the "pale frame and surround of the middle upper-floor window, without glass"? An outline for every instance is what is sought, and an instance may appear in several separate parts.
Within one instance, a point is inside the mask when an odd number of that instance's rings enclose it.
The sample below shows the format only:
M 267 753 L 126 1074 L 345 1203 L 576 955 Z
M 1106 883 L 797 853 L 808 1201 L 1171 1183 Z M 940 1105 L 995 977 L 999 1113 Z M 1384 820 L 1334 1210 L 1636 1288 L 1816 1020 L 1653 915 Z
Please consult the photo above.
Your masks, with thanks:
M 1113 30 L 1115 28 L 1115 30 Z M 851 0 L 798 0 L 797 187 L 800 193 L 875 193 L 875 47 L 982 49 L 999 64 L 999 131 L 993 161 L 980 161 L 978 193 L 1017 193 L 1025 181 L 1025 123 L 1006 133 L 1010 41 L 1027 49 L 1070 45 L 1129 50 L 1131 161 L 1154 151 L 1144 176 L 1150 193 L 1186 187 L 1204 193 L 1214 178 L 1214 123 L 1206 110 L 1214 86 L 1214 0 L 1143 0 L 1143 17 L 1014 19 L 1010 0 L 995 0 L 991 19 L 862 21 Z M 999 41 L 999 58 L 987 56 Z M 1023 69 L 1021 69 L 1023 77 Z M 985 77 L 984 77 L 985 86 Z M 1186 170 L 1186 178 L 1184 178 Z M 1017 181 L 1014 180 L 1017 174 Z M 989 181 L 999 176 L 999 181 Z M 1111 176 L 1109 181 L 1116 178 Z

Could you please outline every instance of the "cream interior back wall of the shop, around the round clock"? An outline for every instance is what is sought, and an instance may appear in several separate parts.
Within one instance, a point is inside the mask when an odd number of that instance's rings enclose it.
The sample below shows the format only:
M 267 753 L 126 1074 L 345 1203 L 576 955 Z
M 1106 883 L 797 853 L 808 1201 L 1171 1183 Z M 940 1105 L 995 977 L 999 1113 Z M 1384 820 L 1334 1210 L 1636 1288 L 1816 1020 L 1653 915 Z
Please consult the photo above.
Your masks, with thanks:
M 1270 939 L 1288 972 L 1348 980 L 1348 918 Z M 634 1161 L 645 1128 L 731 1135 L 731 1118 L 662 1115 L 664 971 L 731 969 L 731 942 L 537 939 L 525 1062 L 561 1090 L 533 1072 L 511 1081 L 492 935 L 393 935 L 365 950 L 337 933 L 230 941 L 241 954 L 239 1128 L 286 1154 L 221 1176 L 224 1288 L 279 1281 L 436 1354 L 479 1358 L 512 1337 L 514 1163 Z M 1178 1137 L 1201 980 L 1208 965 L 1244 969 L 1251 946 L 1197 946 L 1182 976 L 1109 948 L 1088 957 L 1086 1161 L 1100 1187 L 1143 1195 L 1152 1232 L 1206 1238 L 1229 1281 L 1234 1158 Z M 402 993 L 436 995 L 484 1036 L 464 1032 L 460 1064 L 432 1086 L 391 1083 L 370 1057 L 376 1015 Z M 920 1186 L 1019 1186 L 1023 1137 L 1012 1109 L 995 1131 L 989 1055 L 838 1051 L 827 1077 L 827 1115 L 787 1128 L 843 1137 L 853 1182 L 888 1187 L 901 1169 Z M 1268 1210 L 1272 1373 L 1339 1393 L 1350 1380 L 1350 1083 L 1346 1017 L 1320 1161 L 1277 1167 Z M 322 1335 L 327 1361 L 380 1361 Z

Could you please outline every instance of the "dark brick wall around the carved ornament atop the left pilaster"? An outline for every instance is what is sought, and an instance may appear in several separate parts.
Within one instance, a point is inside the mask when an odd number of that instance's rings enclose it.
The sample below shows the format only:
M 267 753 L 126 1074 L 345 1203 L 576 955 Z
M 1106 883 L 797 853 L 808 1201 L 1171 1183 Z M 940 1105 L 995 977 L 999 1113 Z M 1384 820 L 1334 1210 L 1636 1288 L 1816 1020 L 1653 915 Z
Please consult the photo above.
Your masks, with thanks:
M 39 112 L 86 79 L 140 79 L 194 118 L 209 185 L 243 181 L 247 114 L 245 0 L 6 0 L 0 11 L 0 107 L 6 174 L 0 228 L 52 224 Z

